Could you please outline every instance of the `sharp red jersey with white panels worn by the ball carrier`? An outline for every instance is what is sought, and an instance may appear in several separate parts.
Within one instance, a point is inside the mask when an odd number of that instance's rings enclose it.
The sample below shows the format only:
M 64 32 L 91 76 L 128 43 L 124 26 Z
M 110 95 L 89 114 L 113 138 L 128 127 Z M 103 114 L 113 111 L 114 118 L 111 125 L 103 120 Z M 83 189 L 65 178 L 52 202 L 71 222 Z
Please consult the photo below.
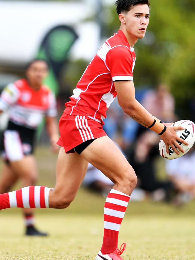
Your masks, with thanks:
M 119 30 L 98 50 L 65 104 L 64 112 L 95 120 L 106 118 L 106 110 L 117 95 L 113 81 L 133 80 L 135 60 L 134 48 Z

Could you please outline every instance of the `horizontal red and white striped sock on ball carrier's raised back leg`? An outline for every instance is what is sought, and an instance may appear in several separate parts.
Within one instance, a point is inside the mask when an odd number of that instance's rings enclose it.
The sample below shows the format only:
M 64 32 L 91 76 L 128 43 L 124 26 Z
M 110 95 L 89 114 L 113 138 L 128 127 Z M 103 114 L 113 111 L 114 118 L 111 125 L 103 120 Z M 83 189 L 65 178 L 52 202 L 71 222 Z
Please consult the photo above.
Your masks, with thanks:
M 49 208 L 49 190 L 30 186 L 0 194 L 0 210 L 5 208 Z

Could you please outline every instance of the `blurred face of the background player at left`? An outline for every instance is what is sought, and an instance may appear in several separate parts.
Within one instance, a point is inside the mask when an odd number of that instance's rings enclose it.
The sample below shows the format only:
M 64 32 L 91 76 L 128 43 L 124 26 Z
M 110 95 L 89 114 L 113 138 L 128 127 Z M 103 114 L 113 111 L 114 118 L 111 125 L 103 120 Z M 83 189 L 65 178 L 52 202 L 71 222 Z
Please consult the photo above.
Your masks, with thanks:
M 27 69 L 26 76 L 32 86 L 40 86 L 47 73 L 47 64 L 44 61 L 35 61 Z

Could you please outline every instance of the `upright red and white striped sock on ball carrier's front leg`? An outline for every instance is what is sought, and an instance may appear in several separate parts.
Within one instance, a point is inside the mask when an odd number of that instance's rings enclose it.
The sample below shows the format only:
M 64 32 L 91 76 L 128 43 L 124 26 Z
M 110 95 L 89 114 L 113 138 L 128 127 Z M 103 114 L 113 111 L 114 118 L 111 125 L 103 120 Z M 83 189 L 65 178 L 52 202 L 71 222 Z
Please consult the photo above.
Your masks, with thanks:
M 112 189 L 104 205 L 104 239 L 101 253 L 113 253 L 118 247 L 119 229 L 125 215 L 130 196 Z

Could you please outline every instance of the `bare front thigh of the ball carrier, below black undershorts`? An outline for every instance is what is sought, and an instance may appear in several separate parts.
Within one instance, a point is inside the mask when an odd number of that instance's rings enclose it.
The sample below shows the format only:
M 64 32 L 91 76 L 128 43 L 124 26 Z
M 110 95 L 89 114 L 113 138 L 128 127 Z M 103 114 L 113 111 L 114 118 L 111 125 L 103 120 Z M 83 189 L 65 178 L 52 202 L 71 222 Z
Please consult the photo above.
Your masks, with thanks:
M 125 181 L 131 175 L 132 178 L 135 177 L 134 169 L 108 136 L 95 139 L 94 142 L 82 151 L 81 156 L 103 172 L 114 183 Z

